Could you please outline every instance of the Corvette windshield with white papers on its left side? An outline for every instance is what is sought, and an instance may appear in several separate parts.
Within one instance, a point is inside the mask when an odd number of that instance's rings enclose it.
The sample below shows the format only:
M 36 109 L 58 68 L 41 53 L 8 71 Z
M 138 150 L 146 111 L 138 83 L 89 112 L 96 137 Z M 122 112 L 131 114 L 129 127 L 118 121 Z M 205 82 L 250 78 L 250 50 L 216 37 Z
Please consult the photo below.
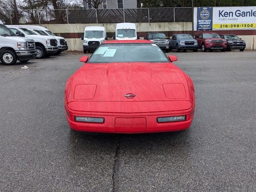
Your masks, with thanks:
M 170 62 L 156 44 L 101 44 L 88 63 Z

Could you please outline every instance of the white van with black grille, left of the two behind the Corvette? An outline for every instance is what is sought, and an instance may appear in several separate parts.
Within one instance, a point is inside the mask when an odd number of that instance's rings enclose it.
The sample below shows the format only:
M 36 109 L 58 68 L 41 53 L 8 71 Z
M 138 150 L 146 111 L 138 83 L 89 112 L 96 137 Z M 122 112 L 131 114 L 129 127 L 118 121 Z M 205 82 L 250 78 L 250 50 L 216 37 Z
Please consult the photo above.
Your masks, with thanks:
M 83 42 L 84 53 L 93 51 L 98 48 L 105 40 L 108 40 L 106 28 L 101 26 L 90 26 L 84 28 L 84 35 L 81 37 Z

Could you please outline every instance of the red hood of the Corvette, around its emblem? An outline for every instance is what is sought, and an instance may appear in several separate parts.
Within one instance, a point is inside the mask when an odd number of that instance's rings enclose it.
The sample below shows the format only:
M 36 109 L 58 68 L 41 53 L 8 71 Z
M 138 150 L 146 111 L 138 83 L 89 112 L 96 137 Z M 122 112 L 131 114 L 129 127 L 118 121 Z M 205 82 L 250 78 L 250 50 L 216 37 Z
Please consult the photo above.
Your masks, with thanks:
M 172 63 L 88 63 L 68 80 L 65 90 L 68 103 L 191 100 L 190 91 L 187 75 Z

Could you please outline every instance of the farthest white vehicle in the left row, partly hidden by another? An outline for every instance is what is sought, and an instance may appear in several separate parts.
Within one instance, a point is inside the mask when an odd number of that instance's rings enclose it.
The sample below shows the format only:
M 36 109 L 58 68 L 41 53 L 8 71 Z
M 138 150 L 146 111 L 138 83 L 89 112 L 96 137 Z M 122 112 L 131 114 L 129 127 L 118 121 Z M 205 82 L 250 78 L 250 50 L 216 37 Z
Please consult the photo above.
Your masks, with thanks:
M 25 27 L 29 30 L 33 30 L 38 35 L 53 36 L 54 38 L 56 38 L 57 46 L 58 46 L 57 54 L 60 54 L 62 51 L 68 50 L 68 44 L 65 41 L 64 37 L 56 36 L 54 33 L 52 33 L 47 28 L 38 26 L 38 25 L 22 25 L 22 27 Z

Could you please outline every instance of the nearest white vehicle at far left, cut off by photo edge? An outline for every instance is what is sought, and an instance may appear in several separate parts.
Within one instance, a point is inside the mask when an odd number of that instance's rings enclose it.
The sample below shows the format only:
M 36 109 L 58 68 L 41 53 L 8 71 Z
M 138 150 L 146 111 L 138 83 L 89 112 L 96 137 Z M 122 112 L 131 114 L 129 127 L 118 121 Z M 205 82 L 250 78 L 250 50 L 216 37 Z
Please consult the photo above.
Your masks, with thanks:
M 18 37 L 9 28 L 0 24 L 0 60 L 3 64 L 12 65 L 17 60 L 28 62 L 35 58 L 34 40 Z

